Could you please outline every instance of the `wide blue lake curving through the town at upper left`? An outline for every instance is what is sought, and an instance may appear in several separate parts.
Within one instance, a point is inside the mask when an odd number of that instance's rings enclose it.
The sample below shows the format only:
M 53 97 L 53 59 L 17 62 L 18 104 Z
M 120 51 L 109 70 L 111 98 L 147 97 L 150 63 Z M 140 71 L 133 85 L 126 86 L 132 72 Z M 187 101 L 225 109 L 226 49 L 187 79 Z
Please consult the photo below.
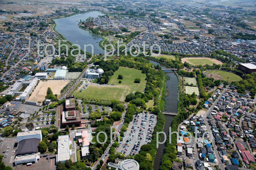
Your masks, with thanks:
M 104 54 L 104 50 L 99 46 L 99 42 L 102 40 L 102 37 L 92 35 L 89 31 L 78 27 L 80 20 L 85 21 L 89 17 L 96 18 L 102 15 L 104 14 L 101 12 L 91 11 L 65 18 L 55 19 L 55 29 L 71 43 L 78 44 L 82 50 L 84 50 L 85 44 L 92 44 L 94 47 L 94 54 Z M 91 47 L 87 47 L 86 51 L 91 53 Z

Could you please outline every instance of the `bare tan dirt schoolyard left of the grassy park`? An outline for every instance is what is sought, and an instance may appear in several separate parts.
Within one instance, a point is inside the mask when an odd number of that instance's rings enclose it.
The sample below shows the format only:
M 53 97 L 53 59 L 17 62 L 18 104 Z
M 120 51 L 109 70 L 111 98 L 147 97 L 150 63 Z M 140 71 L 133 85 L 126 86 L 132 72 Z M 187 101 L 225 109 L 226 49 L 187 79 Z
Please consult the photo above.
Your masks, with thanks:
M 28 100 L 42 102 L 45 99 L 47 88 L 52 89 L 53 94 L 60 95 L 60 91 L 68 84 L 69 80 L 47 80 L 40 81 Z

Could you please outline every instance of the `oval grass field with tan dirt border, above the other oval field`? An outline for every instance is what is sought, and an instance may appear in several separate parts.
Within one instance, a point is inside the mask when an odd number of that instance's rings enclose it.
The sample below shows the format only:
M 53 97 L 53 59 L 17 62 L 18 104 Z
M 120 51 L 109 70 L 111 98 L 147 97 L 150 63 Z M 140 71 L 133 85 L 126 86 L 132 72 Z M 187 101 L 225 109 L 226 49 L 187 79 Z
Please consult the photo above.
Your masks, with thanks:
M 212 65 L 212 64 L 222 64 L 221 61 L 219 60 L 216 60 L 216 59 L 211 59 L 211 58 L 200 58 L 200 57 L 189 57 L 189 58 L 182 58 L 181 59 L 182 63 L 189 63 L 189 64 L 192 64 L 192 65 L 206 65 L 206 64 L 209 64 L 209 65 Z

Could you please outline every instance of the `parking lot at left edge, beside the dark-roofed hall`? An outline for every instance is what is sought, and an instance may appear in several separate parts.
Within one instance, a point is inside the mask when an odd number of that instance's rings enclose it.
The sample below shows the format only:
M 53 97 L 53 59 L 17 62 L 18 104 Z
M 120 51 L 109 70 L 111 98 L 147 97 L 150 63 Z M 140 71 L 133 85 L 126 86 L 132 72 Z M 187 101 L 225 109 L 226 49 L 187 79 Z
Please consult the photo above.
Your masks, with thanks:
M 0 154 L 3 155 L 3 162 L 6 166 L 13 166 L 15 159 L 15 152 L 17 149 L 16 138 L 1 138 L 3 141 L 0 143 Z M 15 145 L 16 143 L 16 145 Z

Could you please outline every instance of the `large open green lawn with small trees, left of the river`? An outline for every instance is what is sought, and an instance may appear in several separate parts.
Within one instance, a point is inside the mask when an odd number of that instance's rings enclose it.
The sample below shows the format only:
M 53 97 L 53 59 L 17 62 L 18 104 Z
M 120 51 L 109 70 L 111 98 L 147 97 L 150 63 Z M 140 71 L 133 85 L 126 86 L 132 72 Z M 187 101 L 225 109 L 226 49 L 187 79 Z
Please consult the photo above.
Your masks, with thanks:
M 123 75 L 122 83 L 118 83 L 119 79 L 118 75 Z M 140 78 L 140 83 L 134 83 L 135 78 Z M 114 75 L 111 76 L 109 80 L 109 84 L 114 84 L 114 86 L 110 85 L 98 85 L 98 84 L 90 84 L 85 90 L 82 92 L 76 92 L 75 96 L 77 98 L 83 99 L 94 99 L 94 100 L 118 100 L 123 102 L 125 100 L 125 96 L 131 92 L 144 90 L 146 86 L 146 74 L 142 74 L 141 70 L 136 70 L 133 68 L 119 67 L 119 69 L 114 72 Z

